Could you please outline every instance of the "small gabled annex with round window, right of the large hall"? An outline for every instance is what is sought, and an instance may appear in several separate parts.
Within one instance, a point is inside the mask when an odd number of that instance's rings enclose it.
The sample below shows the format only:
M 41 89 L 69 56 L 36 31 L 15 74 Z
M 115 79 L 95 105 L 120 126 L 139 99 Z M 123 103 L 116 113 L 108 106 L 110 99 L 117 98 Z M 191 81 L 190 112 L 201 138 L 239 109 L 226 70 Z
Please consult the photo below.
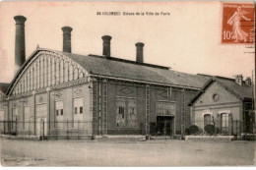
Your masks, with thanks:
M 189 103 L 192 106 L 191 123 L 203 132 L 211 124 L 215 125 L 218 134 L 255 133 L 251 79 L 243 81 L 242 75 L 235 79 L 210 78 Z

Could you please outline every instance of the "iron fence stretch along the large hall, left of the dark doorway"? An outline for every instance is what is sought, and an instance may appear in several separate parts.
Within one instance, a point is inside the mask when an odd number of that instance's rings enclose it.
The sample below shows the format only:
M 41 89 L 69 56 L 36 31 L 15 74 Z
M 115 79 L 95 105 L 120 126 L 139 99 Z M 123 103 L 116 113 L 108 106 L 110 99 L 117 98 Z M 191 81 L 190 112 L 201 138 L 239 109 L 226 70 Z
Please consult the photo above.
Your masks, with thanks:
M 41 136 L 49 139 L 83 139 L 97 135 L 145 135 L 141 122 L 107 126 L 92 121 L 0 121 L 1 134 Z

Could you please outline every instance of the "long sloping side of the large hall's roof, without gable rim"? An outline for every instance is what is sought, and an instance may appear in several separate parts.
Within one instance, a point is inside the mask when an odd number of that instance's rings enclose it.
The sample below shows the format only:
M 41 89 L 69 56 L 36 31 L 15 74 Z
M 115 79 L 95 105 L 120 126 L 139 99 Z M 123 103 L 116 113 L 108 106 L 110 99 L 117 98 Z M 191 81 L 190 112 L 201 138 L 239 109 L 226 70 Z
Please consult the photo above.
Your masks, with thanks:
M 107 59 L 103 56 L 58 52 L 68 56 L 95 75 L 196 88 L 201 88 L 209 80 L 203 76 L 176 72 L 156 65 L 136 64 L 127 60 Z

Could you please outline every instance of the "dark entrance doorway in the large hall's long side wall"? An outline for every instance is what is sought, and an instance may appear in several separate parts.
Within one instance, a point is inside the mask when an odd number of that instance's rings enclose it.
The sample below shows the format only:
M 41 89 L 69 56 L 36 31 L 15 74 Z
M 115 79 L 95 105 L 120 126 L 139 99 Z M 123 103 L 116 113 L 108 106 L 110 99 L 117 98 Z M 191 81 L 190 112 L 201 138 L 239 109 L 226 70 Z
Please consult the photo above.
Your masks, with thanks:
M 173 135 L 173 117 L 157 116 L 157 135 L 172 136 Z

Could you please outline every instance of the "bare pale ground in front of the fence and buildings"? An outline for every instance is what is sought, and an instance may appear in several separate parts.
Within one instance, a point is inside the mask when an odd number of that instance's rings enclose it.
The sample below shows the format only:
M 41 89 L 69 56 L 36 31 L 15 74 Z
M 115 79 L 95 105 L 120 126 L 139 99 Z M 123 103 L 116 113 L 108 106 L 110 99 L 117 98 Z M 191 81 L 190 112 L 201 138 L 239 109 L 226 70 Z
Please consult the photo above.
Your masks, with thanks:
M 17 141 L 1 139 L 2 166 L 256 165 L 256 142 Z

